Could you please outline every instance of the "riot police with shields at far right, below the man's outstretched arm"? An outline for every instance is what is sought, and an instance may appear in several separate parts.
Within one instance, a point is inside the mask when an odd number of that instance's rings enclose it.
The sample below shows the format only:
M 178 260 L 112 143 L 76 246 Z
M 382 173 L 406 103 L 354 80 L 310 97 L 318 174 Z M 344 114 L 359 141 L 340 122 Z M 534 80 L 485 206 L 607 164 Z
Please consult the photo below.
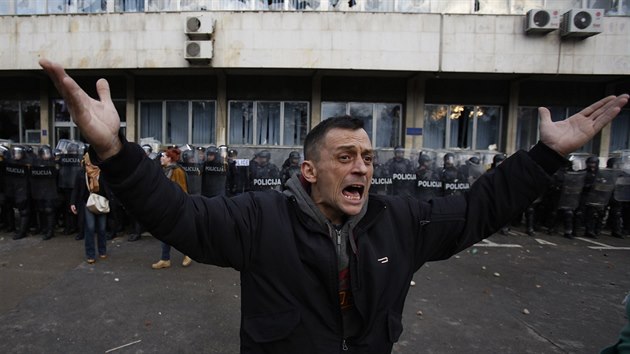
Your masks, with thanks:
M 574 153 L 569 163 L 553 175 L 547 192 L 526 214 L 527 233 L 545 228 L 549 233 L 561 224 L 566 238 L 597 238 L 604 227 L 623 238 L 630 227 L 630 151 L 611 154 L 600 168 L 597 156 Z

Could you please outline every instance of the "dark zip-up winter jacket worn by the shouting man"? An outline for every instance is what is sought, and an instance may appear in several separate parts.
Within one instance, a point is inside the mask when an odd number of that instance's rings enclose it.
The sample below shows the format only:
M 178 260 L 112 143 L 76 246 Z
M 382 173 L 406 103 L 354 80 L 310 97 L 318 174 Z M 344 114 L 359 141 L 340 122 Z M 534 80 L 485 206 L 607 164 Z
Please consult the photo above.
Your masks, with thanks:
M 505 160 L 462 196 L 427 203 L 371 195 L 346 242 L 361 326 L 350 338 L 339 306 L 338 245 L 299 195 L 188 196 L 131 143 L 98 164 L 125 207 L 154 236 L 198 262 L 241 272 L 242 352 L 389 353 L 402 333 L 414 272 L 513 220 L 563 163 L 539 144 Z

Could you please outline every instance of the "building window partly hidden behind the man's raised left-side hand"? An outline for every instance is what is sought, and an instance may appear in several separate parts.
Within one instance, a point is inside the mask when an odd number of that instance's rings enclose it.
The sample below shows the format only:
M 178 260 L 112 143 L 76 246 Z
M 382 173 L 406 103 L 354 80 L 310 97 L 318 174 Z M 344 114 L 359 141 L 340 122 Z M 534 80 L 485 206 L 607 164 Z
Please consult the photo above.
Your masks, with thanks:
M 120 117 L 120 130 L 124 135 L 127 129 L 127 110 L 126 101 L 124 99 L 113 99 L 114 107 Z M 61 139 L 77 140 L 86 142 L 85 138 L 81 136 L 81 131 L 74 124 L 68 112 L 68 106 L 64 100 L 52 100 L 52 123 L 53 123 L 53 136 L 51 142 L 52 145 L 56 145 Z

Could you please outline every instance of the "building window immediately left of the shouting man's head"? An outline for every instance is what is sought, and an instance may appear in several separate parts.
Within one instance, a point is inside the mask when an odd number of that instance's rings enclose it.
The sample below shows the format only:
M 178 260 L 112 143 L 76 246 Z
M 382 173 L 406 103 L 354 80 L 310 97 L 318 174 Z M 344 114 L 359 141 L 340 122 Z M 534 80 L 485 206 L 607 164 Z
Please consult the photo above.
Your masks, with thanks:
M 229 144 L 301 146 L 309 104 L 300 101 L 230 101 Z

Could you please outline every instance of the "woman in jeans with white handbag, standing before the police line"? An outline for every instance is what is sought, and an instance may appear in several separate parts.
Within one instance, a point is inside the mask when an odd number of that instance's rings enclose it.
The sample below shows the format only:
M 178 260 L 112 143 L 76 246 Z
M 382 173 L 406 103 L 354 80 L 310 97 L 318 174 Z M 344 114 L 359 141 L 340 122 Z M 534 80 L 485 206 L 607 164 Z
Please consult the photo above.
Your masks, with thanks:
M 70 209 L 74 214 L 77 214 L 77 205 L 85 207 L 85 258 L 89 264 L 93 264 L 96 261 L 94 236 L 97 238 L 99 258 L 107 258 L 105 225 L 107 224 L 109 202 L 106 198 L 107 187 L 104 181 L 99 178 L 101 170 L 92 165 L 88 154 L 83 156 L 81 163 L 85 168 L 85 173 L 77 174 L 75 188 L 78 193 Z

